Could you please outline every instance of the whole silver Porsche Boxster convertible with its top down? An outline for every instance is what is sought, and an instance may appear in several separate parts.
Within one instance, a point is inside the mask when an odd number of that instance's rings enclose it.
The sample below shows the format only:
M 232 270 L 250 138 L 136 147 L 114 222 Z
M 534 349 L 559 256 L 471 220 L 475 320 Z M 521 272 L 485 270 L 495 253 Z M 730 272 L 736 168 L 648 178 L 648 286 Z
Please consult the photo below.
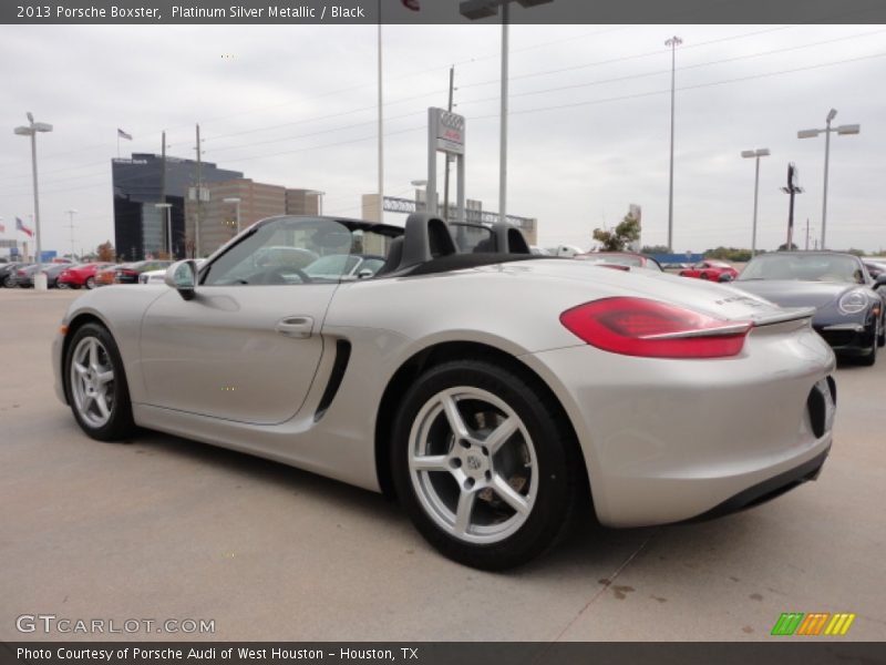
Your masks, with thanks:
M 90 437 L 141 426 L 382 491 L 494 570 L 583 504 L 660 524 L 815 478 L 836 388 L 811 316 L 536 256 L 507 225 L 284 216 L 165 284 L 81 296 L 53 362 Z

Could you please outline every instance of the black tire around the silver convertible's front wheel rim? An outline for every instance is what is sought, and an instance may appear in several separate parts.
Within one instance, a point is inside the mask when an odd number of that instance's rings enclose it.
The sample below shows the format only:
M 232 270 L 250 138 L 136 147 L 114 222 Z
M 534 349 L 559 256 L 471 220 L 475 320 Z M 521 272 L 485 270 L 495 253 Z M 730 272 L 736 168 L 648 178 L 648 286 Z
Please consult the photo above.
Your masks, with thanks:
M 102 397 L 109 398 L 105 400 L 109 415 L 104 422 L 96 422 L 96 420 L 102 418 L 101 413 L 94 413 L 95 418 L 91 420 L 90 413 L 97 410 L 97 399 L 92 397 L 80 399 L 85 388 L 83 388 L 82 385 L 72 385 L 72 364 L 74 362 L 74 357 L 81 352 L 81 349 L 84 349 L 91 344 L 90 340 L 97 341 L 99 359 L 96 365 L 101 367 L 102 372 L 106 372 L 109 369 L 113 372 L 113 378 L 102 385 L 104 389 Z M 78 365 L 81 364 L 78 362 Z M 92 367 L 90 367 L 90 369 L 95 371 Z M 68 403 L 71 406 L 71 411 L 74 415 L 74 419 L 89 437 L 99 441 L 119 441 L 135 431 L 136 428 L 132 417 L 132 402 L 130 401 L 130 390 L 123 361 L 120 357 L 120 350 L 117 349 L 114 338 L 104 326 L 86 324 L 76 329 L 64 355 L 62 376 L 64 392 L 68 397 Z M 90 403 L 83 407 L 83 402 Z M 92 409 L 90 408 L 91 406 L 95 406 L 96 408 Z

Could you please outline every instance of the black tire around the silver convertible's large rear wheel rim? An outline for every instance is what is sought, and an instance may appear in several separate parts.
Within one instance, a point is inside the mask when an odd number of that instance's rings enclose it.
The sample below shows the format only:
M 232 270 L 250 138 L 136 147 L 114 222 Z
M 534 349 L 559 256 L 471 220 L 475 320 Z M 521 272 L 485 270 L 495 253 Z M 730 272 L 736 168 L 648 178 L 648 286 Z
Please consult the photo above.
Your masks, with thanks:
M 467 396 L 455 397 L 453 403 L 459 405 L 456 410 L 461 410 L 460 416 L 464 418 L 473 443 L 468 444 L 465 439 L 453 436 L 454 429 L 450 427 L 451 420 L 444 407 L 436 407 L 437 415 L 431 416 L 434 413 L 434 400 L 441 399 L 440 396 L 447 395 L 450 390 Z M 484 399 L 487 399 L 484 395 L 501 402 L 507 411 L 498 410 L 495 415 L 497 407 L 493 406 L 494 401 L 486 402 L 488 409 L 484 411 Z M 459 399 L 462 401 L 459 402 Z M 454 561 L 491 571 L 524 564 L 550 549 L 567 532 L 586 488 L 581 475 L 585 464 L 578 453 L 578 444 L 571 430 L 560 422 L 558 413 L 559 405 L 553 397 L 527 383 L 517 372 L 482 360 L 446 362 L 419 377 L 404 396 L 396 415 L 390 459 L 400 502 L 427 542 Z M 514 416 L 516 420 L 512 421 Z M 490 454 L 485 447 L 477 443 L 483 440 L 482 437 L 491 440 L 492 431 L 505 420 L 523 427 L 503 437 L 498 452 Z M 483 424 L 487 422 L 492 424 Z M 426 429 L 421 429 L 424 427 Z M 431 443 L 434 428 L 441 433 L 436 434 L 437 442 Z M 450 432 L 445 433 L 447 428 Z M 487 431 L 484 433 L 482 428 Z M 414 439 L 413 430 L 420 432 Z M 423 432 L 429 432 L 427 437 Z M 528 436 L 528 443 L 524 432 Z M 463 443 L 461 448 L 460 443 Z M 410 461 L 414 454 L 413 446 L 424 447 L 422 456 L 435 456 L 429 450 L 433 444 L 442 446 L 442 451 L 449 451 L 440 457 L 461 454 L 464 464 L 453 467 L 453 460 L 447 459 L 445 469 L 414 470 Z M 474 459 L 472 453 L 476 449 L 481 449 L 486 457 L 477 452 L 480 461 Z M 527 463 L 527 459 L 530 463 Z M 478 463 L 486 464 L 485 471 L 476 466 Z M 475 484 L 473 479 L 459 480 L 459 471 L 463 472 L 461 478 L 468 473 L 485 475 L 478 477 Z M 504 493 L 492 487 L 498 481 L 507 485 L 505 490 L 509 487 L 518 498 L 525 500 L 523 514 L 512 508 Z M 466 484 L 462 487 L 462 482 L 470 482 L 472 491 L 467 491 Z M 456 497 L 446 508 L 453 520 L 447 530 L 440 509 L 433 508 L 433 501 L 429 502 L 429 491 L 445 497 L 450 485 L 453 488 L 450 493 Z M 524 490 L 526 494 L 521 494 Z M 459 530 L 456 513 L 465 494 L 474 494 L 474 498 L 470 501 L 472 508 L 467 509 L 468 524 L 462 535 L 457 535 L 453 533 Z M 509 518 L 506 514 L 508 511 L 513 511 Z M 477 530 L 499 530 L 499 533 L 484 535 Z M 491 540 L 470 542 L 472 538 Z

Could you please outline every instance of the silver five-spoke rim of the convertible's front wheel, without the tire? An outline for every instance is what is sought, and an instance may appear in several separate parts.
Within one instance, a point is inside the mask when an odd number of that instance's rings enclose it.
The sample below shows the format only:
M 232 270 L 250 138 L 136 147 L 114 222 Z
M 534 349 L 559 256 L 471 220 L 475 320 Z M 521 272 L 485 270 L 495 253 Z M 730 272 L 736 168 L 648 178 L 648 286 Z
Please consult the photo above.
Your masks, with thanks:
M 71 354 L 71 397 L 83 421 L 104 427 L 114 410 L 114 368 L 96 337 L 84 337 Z

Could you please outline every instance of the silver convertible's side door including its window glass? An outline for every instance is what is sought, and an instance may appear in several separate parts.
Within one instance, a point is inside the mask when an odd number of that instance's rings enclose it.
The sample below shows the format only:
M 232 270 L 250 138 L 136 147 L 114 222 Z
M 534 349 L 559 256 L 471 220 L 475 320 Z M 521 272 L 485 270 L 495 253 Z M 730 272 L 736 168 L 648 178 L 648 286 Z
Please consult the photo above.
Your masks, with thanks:
M 269 222 L 200 272 L 193 299 L 169 289 L 146 310 L 140 349 L 148 403 L 261 424 L 298 412 L 340 282 L 312 279 L 301 268 L 337 250 L 331 244 L 350 245 L 350 232 L 331 229 L 337 223 L 329 219 Z M 261 263 L 268 257 L 276 263 Z

